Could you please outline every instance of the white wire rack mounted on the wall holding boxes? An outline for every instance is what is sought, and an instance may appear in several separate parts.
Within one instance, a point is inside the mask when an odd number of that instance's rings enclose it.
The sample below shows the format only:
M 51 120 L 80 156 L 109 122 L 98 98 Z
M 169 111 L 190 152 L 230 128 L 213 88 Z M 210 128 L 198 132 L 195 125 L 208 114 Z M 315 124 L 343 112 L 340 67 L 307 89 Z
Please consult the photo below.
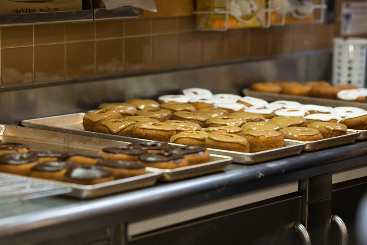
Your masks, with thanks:
M 251 19 L 241 19 L 239 17 L 237 17 L 235 14 L 233 14 L 230 10 L 229 10 L 229 0 L 226 0 L 226 11 L 194 11 L 194 14 L 225 14 L 225 28 L 220 28 L 220 29 L 214 29 L 214 28 L 208 28 L 208 29 L 200 29 L 200 30 L 206 30 L 206 31 L 226 31 L 228 30 L 228 20 L 229 20 L 229 15 L 231 15 L 232 17 L 236 18 L 237 21 L 239 21 L 240 23 L 251 23 L 252 21 L 254 21 L 255 19 L 258 18 L 258 16 L 262 13 L 266 13 L 267 15 L 267 20 L 266 20 L 266 24 L 259 26 L 262 28 L 269 28 L 272 25 L 276 25 L 276 26 L 283 26 L 286 24 L 286 15 L 288 13 L 290 13 L 291 15 L 293 15 L 294 18 L 297 19 L 306 19 L 307 17 L 309 17 L 316 9 L 320 9 L 321 13 L 320 13 L 320 19 L 317 20 L 313 20 L 314 23 L 324 23 L 324 19 L 325 19 L 325 12 L 324 9 L 327 8 L 327 4 L 325 4 L 325 0 L 321 0 L 321 4 L 313 4 L 312 8 L 310 8 L 310 11 L 308 13 L 306 13 L 305 15 L 300 15 L 297 14 L 296 12 L 294 12 L 293 10 L 288 10 L 283 11 L 282 13 L 282 19 L 281 19 L 281 23 L 271 23 L 271 14 L 272 12 L 275 11 L 279 11 L 280 9 L 275 9 L 272 8 L 271 6 L 272 1 L 268 0 L 266 7 L 264 9 L 259 10 Z

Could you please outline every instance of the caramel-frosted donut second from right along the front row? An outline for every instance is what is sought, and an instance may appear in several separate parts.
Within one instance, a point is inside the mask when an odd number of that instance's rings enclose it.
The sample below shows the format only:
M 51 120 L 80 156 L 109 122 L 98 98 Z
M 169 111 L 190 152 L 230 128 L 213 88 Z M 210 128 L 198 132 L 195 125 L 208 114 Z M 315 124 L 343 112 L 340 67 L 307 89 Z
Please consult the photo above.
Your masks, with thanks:
M 284 138 L 289 140 L 316 141 L 323 139 L 319 130 L 309 127 L 285 127 L 279 131 Z

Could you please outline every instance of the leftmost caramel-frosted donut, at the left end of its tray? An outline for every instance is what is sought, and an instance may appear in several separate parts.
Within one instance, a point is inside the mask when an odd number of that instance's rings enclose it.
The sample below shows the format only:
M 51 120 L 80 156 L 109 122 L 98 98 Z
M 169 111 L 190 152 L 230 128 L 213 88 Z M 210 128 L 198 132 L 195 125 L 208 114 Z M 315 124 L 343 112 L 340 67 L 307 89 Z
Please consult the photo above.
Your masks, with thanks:
M 83 127 L 87 131 L 97 132 L 102 121 L 111 119 L 120 119 L 121 114 L 117 110 L 100 109 L 97 111 L 88 112 L 83 117 Z

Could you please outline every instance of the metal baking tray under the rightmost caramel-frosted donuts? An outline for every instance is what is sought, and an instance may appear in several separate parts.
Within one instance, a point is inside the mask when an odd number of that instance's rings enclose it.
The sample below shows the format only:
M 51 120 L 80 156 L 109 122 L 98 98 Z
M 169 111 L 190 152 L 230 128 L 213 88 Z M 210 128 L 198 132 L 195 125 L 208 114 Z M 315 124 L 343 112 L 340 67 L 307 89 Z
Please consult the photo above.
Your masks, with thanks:
M 300 140 L 287 140 L 291 142 L 299 142 L 306 143 L 305 147 L 302 151 L 317 151 L 325 148 L 335 147 L 338 145 L 345 145 L 353 143 L 357 137 L 360 135 L 360 132 L 352 132 L 347 130 L 347 134 L 342 136 L 337 136 L 333 138 L 316 140 L 316 141 L 300 141 Z

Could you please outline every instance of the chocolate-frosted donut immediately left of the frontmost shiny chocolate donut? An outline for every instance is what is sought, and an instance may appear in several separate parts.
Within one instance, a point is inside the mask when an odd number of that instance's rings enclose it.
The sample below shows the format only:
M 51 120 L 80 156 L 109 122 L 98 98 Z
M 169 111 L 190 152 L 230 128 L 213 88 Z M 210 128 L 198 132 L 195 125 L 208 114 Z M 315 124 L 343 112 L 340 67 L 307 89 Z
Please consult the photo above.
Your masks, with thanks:
M 62 181 L 63 175 L 76 165 L 72 162 L 44 162 L 30 169 L 29 176 L 47 180 Z

